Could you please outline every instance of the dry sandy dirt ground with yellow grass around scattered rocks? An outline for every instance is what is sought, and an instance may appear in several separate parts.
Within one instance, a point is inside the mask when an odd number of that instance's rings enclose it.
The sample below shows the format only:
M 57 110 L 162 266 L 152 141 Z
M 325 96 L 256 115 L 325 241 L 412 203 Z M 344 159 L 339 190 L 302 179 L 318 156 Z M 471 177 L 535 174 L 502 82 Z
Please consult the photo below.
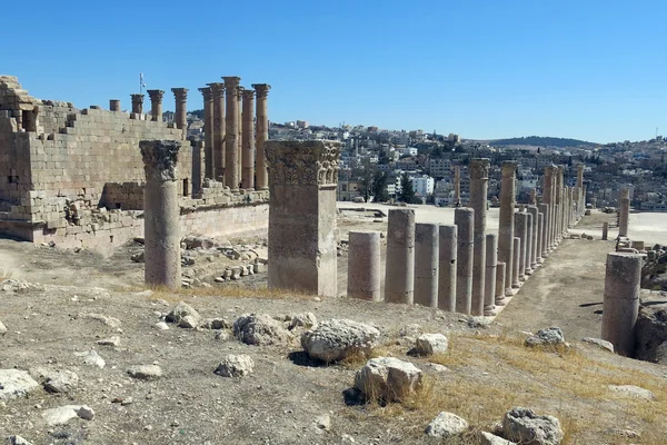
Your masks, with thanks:
M 418 211 L 418 215 L 420 212 Z M 448 222 L 450 211 L 427 209 L 425 217 Z M 611 216 L 594 215 L 577 229 L 601 227 Z M 419 220 L 418 216 L 418 220 Z M 386 230 L 386 218 L 342 216 L 341 238 L 350 229 Z M 450 221 L 449 221 L 450 222 Z M 489 230 L 491 228 L 489 227 Z M 146 290 L 142 264 L 130 261 L 129 245 L 110 258 L 89 251 L 0 240 L 0 271 L 31 285 L 0 285 L 0 369 L 51 367 L 79 377 L 66 394 L 39 389 L 28 397 L 0 402 L 0 441 L 19 434 L 34 445 L 54 444 L 436 444 L 424 429 L 440 411 L 467 418 L 471 431 L 494 428 L 512 406 L 528 406 L 559 417 L 565 444 L 659 444 L 667 435 L 667 369 L 611 355 L 579 343 L 599 337 L 604 258 L 613 244 L 565 240 L 510 305 L 489 326 L 468 317 L 406 305 L 320 299 L 270 294 L 266 274 L 237 283 L 179 293 Z M 269 266 L 270 267 L 270 266 Z M 345 294 L 346 254 L 339 257 L 339 294 Z M 377 355 L 392 355 L 417 365 L 428 377 L 428 394 L 405 406 L 355 405 L 346 395 L 364 360 L 323 366 L 305 357 L 301 330 L 288 346 L 248 346 L 229 329 L 168 330 L 156 324 L 178 301 L 202 317 L 232 323 L 245 313 L 286 315 L 312 313 L 318 320 L 349 318 L 377 326 L 382 339 Z M 593 305 L 591 305 L 593 304 Z M 87 317 L 102 314 L 119 327 Z M 439 357 L 408 355 L 412 340 L 401 328 L 444 333 L 450 352 Z M 532 352 L 524 334 L 560 326 L 573 343 L 567 352 Z M 119 336 L 119 346 L 99 339 Z M 106 366 L 84 365 L 77 353 L 96 350 Z M 255 373 L 242 378 L 213 374 L 228 354 L 247 354 Z M 441 369 L 432 366 L 439 363 Z M 133 365 L 161 366 L 156 380 L 130 378 Z M 1 383 L 0 383 L 1 384 Z M 641 385 L 653 402 L 619 398 L 609 384 Z M 121 404 L 120 400 L 123 403 Z M 131 403 L 128 403 L 131 402 Z M 86 404 L 94 419 L 48 426 L 42 412 Z M 330 427 L 318 419 L 328 417 Z M 640 437 L 629 437 L 629 428 Z M 458 438 L 450 444 L 478 443 Z

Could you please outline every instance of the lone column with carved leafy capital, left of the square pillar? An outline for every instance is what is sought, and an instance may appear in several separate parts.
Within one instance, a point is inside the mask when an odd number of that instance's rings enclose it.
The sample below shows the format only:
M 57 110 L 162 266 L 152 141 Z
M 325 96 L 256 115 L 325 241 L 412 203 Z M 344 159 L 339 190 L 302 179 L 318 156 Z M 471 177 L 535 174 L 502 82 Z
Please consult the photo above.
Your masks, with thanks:
M 181 286 L 178 152 L 180 141 L 139 142 L 143 187 L 145 280 L 149 286 Z

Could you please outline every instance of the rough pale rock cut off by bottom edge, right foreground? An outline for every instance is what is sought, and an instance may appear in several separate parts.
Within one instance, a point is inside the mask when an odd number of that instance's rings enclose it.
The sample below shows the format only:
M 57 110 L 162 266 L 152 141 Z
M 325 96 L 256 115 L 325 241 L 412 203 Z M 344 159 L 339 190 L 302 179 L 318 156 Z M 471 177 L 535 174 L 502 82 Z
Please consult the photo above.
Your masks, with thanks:
M 502 418 L 502 434 L 509 441 L 530 445 L 559 445 L 565 434 L 560 421 L 540 416 L 532 409 L 516 407 Z

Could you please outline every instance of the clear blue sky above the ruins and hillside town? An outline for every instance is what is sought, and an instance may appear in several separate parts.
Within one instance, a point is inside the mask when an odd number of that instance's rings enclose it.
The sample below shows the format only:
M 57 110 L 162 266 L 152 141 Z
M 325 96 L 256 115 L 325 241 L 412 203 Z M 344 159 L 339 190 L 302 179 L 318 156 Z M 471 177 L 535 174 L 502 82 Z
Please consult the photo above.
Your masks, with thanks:
M 42 99 L 130 103 L 220 76 L 269 118 L 464 138 L 667 135 L 667 1 L 8 1 L 0 73 Z M 173 109 L 166 95 L 166 109 Z

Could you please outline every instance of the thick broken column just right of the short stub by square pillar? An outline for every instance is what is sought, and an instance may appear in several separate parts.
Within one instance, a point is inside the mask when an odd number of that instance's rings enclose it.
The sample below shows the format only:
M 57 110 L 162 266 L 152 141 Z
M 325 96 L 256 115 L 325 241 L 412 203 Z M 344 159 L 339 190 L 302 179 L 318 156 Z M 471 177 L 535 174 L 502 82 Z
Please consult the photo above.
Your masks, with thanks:
M 385 271 L 385 301 L 411 305 L 415 301 L 415 210 L 412 209 L 389 210 Z

